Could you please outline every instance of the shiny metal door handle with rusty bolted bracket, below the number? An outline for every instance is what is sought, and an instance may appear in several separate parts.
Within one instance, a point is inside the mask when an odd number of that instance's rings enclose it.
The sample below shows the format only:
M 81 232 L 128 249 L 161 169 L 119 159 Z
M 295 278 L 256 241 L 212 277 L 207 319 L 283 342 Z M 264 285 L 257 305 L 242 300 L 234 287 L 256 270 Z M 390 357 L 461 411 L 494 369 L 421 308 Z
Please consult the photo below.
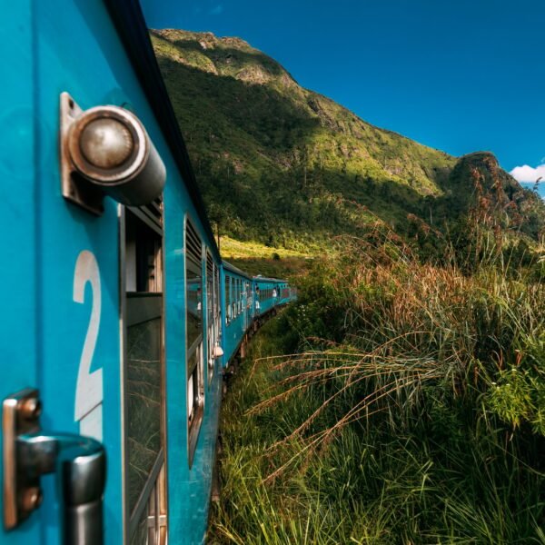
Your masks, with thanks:
M 40 478 L 56 473 L 63 545 L 102 545 L 106 474 L 104 446 L 72 433 L 40 430 L 38 391 L 4 400 L 4 525 L 14 529 L 42 503 Z

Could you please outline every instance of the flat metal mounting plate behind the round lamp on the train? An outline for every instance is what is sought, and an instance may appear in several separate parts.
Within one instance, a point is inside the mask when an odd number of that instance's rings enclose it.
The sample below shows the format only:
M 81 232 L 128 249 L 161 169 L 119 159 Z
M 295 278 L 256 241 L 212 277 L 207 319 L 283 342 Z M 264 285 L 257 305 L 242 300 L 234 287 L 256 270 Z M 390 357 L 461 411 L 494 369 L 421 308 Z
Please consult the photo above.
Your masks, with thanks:
M 68 132 L 83 110 L 68 93 L 61 93 L 60 152 L 61 191 L 68 201 L 81 206 L 95 215 L 104 213 L 104 193 L 77 173 L 68 151 Z

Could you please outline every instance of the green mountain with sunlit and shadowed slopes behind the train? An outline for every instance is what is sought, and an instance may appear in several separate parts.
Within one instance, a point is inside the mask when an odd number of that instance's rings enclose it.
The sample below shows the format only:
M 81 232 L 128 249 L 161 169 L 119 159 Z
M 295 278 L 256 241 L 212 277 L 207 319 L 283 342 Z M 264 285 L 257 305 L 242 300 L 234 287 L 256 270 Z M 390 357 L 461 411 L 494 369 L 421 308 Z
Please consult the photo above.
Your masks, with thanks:
M 491 154 L 457 159 L 368 124 L 239 38 L 151 36 L 223 233 L 293 246 L 358 233 L 377 216 L 403 232 L 408 217 L 439 226 L 484 197 L 527 233 L 543 228 L 542 203 Z

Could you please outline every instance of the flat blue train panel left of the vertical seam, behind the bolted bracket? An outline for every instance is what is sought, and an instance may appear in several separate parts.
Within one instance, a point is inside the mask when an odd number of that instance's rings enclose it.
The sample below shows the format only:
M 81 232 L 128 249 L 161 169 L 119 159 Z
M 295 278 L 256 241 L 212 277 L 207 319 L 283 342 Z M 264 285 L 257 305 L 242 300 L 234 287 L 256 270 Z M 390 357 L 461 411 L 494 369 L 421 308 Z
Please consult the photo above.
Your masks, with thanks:
M 38 385 L 40 345 L 38 340 L 39 311 L 39 233 L 36 183 L 37 162 L 35 145 L 35 100 L 33 83 L 32 2 L 5 5 L 0 20 L 2 40 L 2 85 L 0 86 L 0 175 L 2 205 L 0 229 L 3 233 L 3 266 L 0 281 L 4 286 L 5 320 L 0 332 L 3 365 L 0 371 L 2 399 L 25 387 Z M 17 21 L 17 25 L 14 25 Z M 4 433 L 0 447 L 4 450 Z M 4 476 L 0 474 L 4 487 Z M 1 512 L 5 511 L 0 498 Z M 0 529 L 0 541 L 5 545 L 39 543 L 40 514 L 35 512 L 19 528 Z

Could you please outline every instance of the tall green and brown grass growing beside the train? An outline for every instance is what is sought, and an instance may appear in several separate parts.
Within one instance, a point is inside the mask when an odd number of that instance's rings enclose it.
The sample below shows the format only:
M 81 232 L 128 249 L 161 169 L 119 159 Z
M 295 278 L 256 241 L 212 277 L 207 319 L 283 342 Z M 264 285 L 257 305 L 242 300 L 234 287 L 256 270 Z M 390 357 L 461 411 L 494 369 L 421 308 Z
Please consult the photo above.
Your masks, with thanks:
M 545 543 L 545 285 L 480 244 L 377 228 L 302 280 L 223 412 L 213 540 Z

